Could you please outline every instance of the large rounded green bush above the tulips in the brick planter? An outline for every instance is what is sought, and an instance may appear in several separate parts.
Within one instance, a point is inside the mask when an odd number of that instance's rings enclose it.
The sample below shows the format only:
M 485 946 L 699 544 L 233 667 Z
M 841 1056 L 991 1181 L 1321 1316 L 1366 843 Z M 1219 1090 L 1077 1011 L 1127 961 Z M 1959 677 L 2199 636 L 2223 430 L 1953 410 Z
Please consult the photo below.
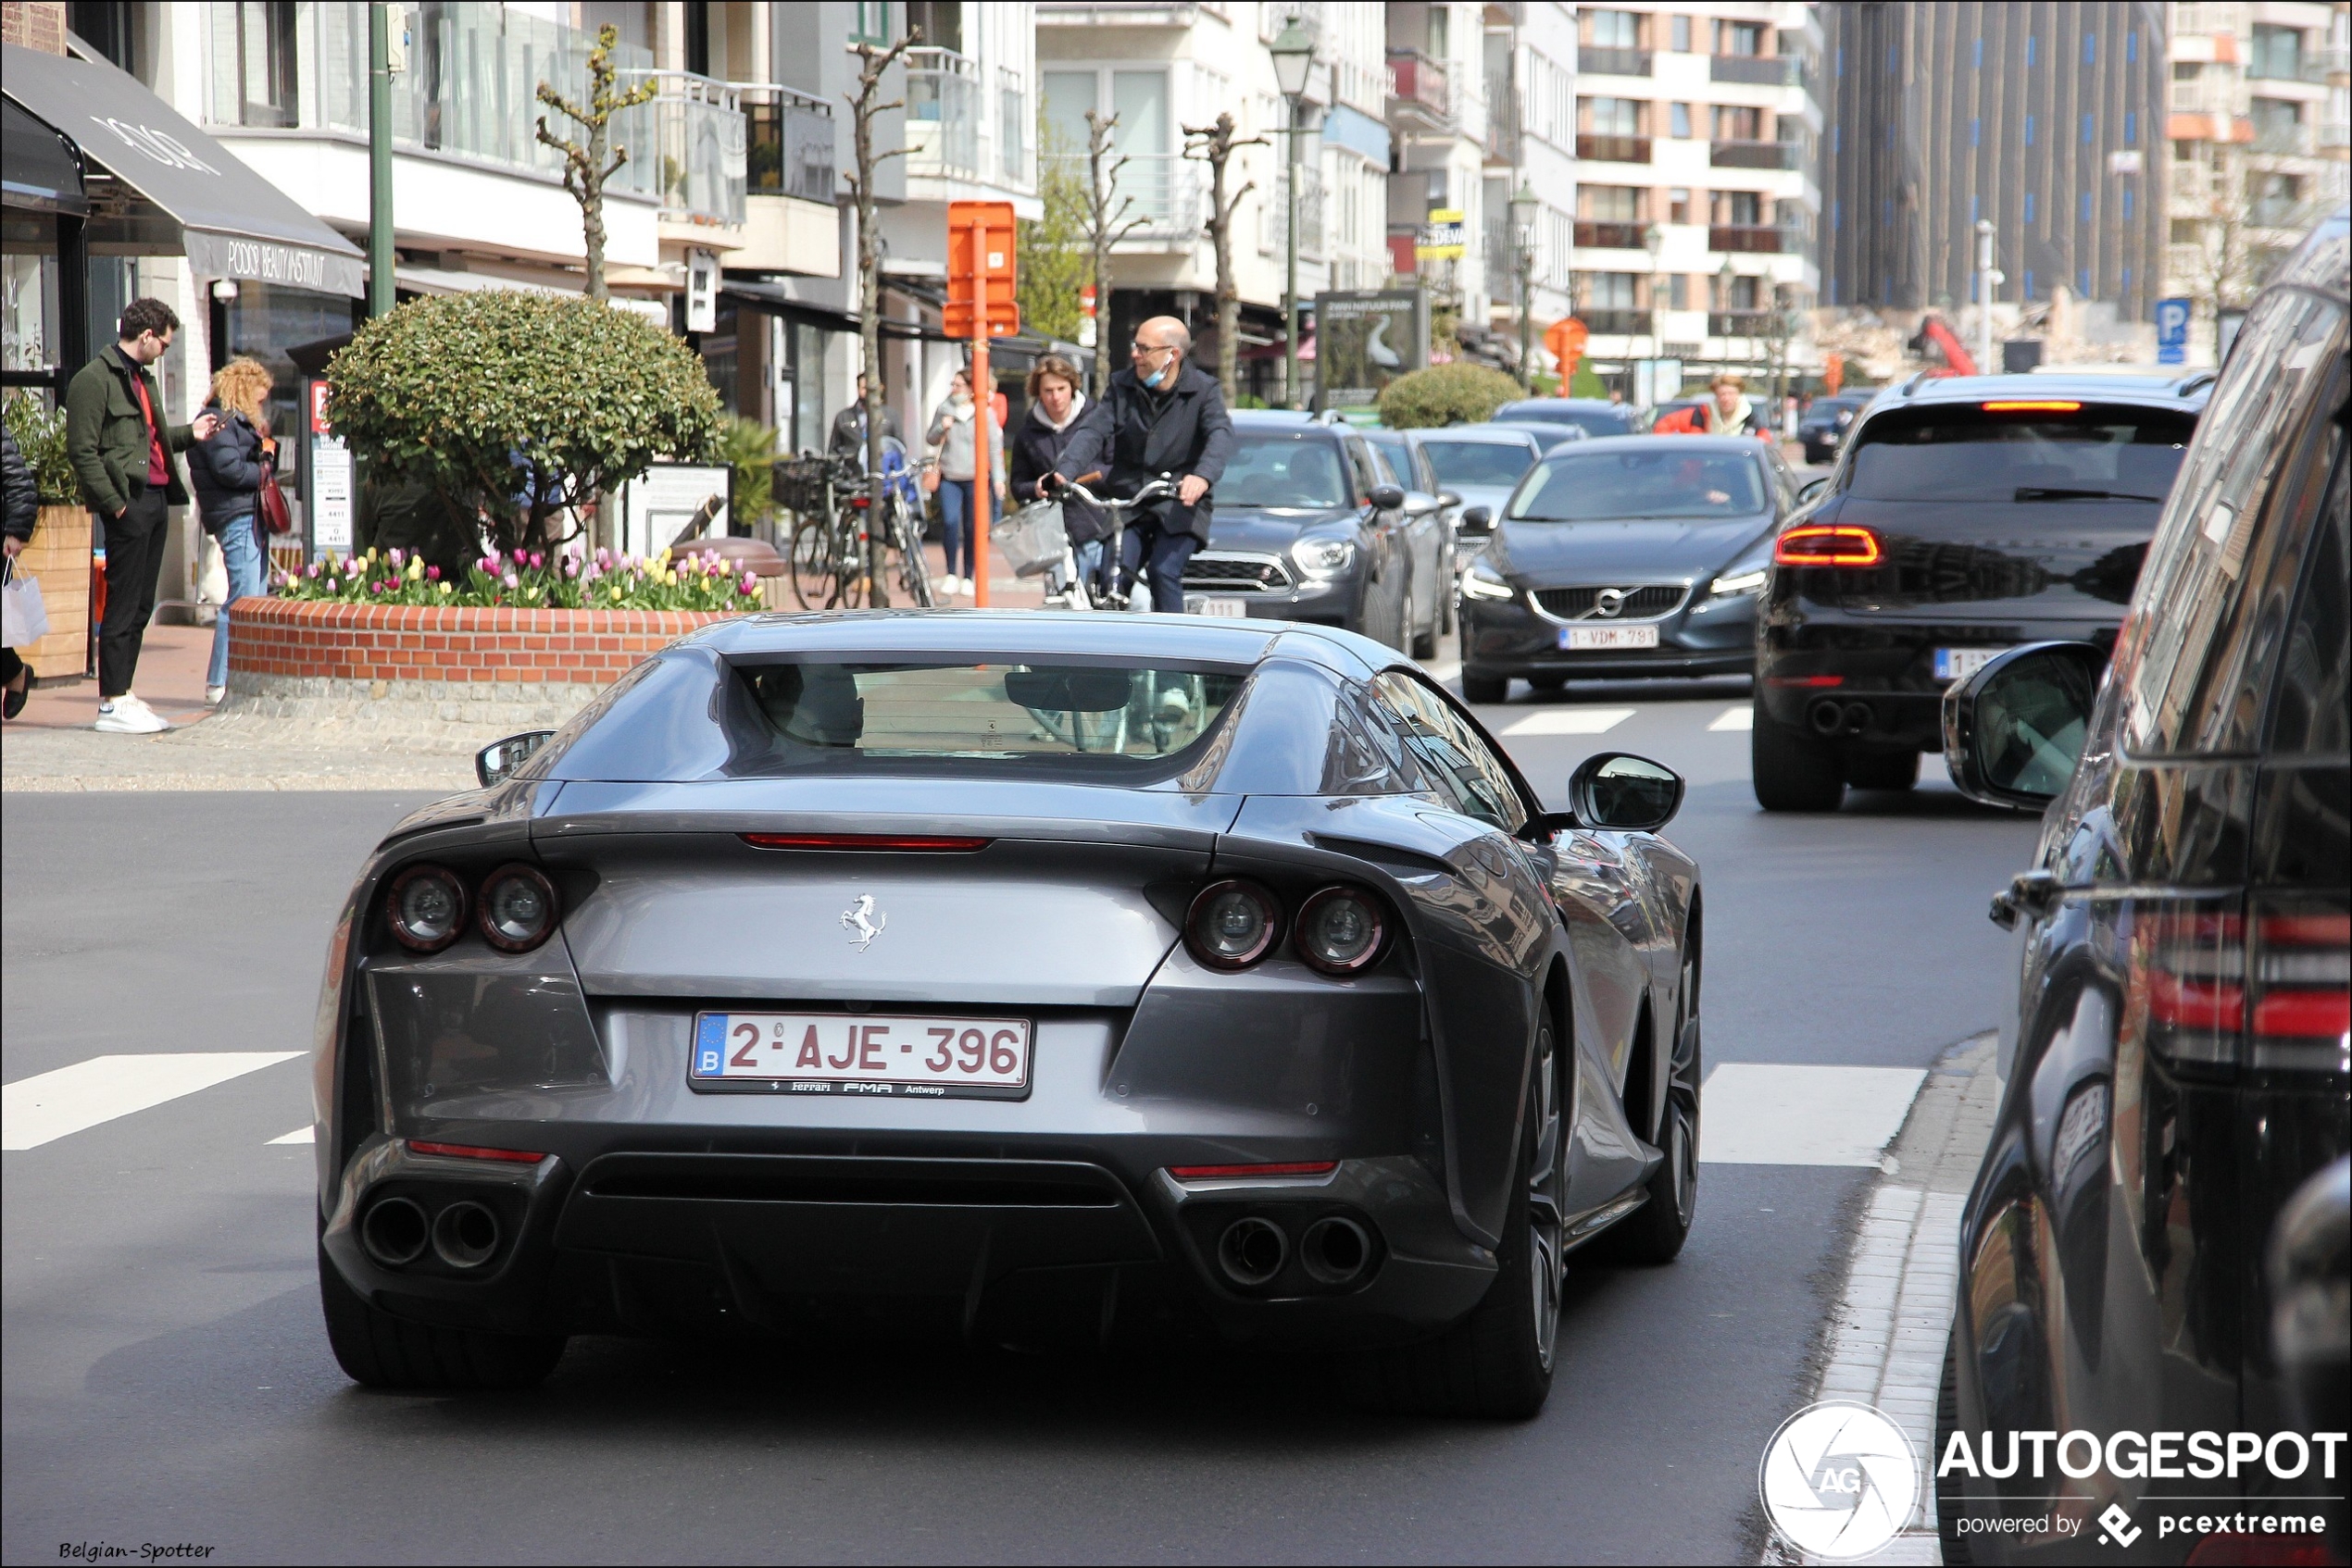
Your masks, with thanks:
M 720 397 L 684 341 L 590 299 L 412 299 L 327 362 L 327 418 L 383 480 L 421 480 L 501 552 L 569 538 L 654 458 L 708 461 Z

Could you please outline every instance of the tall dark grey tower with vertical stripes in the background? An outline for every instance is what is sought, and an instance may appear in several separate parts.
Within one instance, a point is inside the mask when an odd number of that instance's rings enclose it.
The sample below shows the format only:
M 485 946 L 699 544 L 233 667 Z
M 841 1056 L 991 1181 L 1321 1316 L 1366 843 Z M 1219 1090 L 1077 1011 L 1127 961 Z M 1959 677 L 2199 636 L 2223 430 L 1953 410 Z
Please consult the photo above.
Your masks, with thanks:
M 2161 289 L 2161 7 L 1978 0 L 1823 7 L 1823 303 L 1973 322 L 1976 223 L 1994 320 L 2060 315 L 2124 346 Z M 1971 339 L 1973 341 L 1973 339 Z

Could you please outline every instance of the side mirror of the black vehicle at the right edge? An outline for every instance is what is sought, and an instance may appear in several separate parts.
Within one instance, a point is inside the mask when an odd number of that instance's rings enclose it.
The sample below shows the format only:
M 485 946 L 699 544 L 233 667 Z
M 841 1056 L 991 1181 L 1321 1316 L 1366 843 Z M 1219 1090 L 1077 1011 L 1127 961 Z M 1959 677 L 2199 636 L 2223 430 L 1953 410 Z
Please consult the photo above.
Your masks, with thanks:
M 1973 802 L 2039 811 L 2074 776 L 2107 654 L 2030 642 L 1943 693 L 1943 759 Z

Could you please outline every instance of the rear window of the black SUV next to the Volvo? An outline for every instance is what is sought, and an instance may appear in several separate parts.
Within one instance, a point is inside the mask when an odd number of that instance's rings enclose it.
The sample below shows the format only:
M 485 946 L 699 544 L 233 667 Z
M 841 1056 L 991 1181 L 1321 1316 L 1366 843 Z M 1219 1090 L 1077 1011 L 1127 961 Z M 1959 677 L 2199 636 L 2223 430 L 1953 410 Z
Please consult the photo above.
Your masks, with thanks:
M 1863 501 L 2161 503 L 2194 430 L 2194 418 L 2169 409 L 1924 409 L 1863 428 L 1846 491 Z

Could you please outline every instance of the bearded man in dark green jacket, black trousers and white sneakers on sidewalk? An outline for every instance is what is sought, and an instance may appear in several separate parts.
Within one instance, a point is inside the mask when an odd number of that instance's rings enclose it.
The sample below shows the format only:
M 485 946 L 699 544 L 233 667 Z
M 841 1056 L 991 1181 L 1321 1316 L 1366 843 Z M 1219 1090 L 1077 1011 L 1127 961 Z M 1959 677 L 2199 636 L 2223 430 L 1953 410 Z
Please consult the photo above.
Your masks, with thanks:
M 179 317 L 160 299 L 134 299 L 115 324 L 118 343 L 99 350 L 66 388 L 66 456 L 82 501 L 99 515 L 106 541 L 106 616 L 99 621 L 99 729 L 148 736 L 169 729 L 132 696 L 139 644 L 155 616 L 155 583 L 169 538 L 169 508 L 188 503 L 174 451 L 212 440 L 219 414 L 167 425 L 162 393 L 148 367 L 172 348 Z

